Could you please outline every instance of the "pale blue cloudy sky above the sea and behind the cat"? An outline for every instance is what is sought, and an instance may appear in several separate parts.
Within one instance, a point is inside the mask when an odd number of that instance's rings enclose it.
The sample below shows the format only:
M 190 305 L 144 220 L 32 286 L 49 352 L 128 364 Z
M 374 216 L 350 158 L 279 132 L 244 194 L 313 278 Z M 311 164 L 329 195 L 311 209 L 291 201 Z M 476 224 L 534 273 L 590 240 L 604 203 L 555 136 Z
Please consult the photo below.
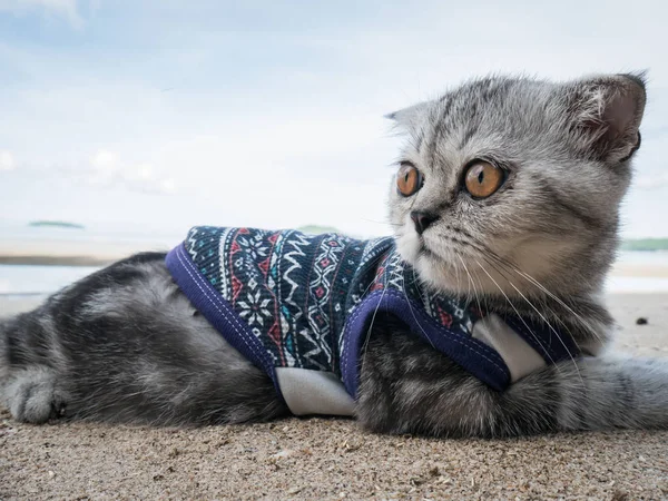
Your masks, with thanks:
M 648 70 L 625 237 L 668 237 L 662 1 L 0 0 L 0 220 L 382 235 L 383 115 L 491 72 Z

